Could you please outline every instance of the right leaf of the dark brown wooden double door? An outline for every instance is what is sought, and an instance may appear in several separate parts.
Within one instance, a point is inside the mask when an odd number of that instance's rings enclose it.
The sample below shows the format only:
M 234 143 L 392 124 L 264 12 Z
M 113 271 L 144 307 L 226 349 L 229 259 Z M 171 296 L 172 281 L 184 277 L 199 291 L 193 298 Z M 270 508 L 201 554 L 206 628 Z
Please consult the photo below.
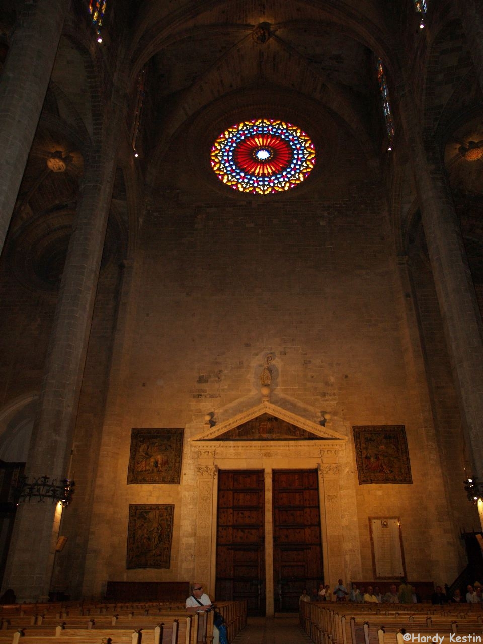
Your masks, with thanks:
M 303 588 L 323 580 L 318 486 L 316 470 L 272 473 L 276 612 L 298 612 Z

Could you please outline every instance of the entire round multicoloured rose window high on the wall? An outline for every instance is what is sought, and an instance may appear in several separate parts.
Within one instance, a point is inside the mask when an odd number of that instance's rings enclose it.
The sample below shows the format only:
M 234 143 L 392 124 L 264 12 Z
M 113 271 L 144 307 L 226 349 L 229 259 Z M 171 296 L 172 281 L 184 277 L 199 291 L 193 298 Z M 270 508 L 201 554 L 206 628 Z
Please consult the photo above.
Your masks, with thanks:
M 316 150 L 300 128 L 273 118 L 243 121 L 211 148 L 218 178 L 242 193 L 269 194 L 294 188 L 312 171 Z

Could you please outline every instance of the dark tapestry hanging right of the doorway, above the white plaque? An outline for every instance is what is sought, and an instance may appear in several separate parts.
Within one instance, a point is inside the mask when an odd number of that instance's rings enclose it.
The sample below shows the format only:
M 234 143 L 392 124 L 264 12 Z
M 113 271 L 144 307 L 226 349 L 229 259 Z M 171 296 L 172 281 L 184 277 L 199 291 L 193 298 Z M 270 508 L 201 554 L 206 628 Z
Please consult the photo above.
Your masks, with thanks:
M 412 483 L 404 425 L 353 427 L 359 484 Z

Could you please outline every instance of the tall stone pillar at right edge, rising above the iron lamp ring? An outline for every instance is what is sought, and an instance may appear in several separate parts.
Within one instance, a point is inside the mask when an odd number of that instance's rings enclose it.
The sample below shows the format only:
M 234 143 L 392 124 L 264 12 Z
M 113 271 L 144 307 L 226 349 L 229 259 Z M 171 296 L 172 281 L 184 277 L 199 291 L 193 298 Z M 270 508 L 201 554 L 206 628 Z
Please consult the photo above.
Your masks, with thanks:
M 404 135 L 412 153 L 422 226 L 451 359 L 460 413 L 473 457 L 483 474 L 483 325 L 459 218 L 440 151 L 421 123 L 407 83 L 399 87 Z

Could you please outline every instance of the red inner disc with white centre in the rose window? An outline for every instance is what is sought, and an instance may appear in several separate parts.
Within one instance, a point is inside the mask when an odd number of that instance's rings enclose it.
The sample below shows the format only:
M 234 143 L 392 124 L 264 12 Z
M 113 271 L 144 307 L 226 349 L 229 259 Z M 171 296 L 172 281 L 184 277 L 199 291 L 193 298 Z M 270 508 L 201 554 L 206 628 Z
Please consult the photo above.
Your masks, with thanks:
M 283 138 L 260 134 L 243 139 L 233 156 L 238 167 L 247 174 L 270 176 L 289 166 L 292 154 L 292 148 Z

